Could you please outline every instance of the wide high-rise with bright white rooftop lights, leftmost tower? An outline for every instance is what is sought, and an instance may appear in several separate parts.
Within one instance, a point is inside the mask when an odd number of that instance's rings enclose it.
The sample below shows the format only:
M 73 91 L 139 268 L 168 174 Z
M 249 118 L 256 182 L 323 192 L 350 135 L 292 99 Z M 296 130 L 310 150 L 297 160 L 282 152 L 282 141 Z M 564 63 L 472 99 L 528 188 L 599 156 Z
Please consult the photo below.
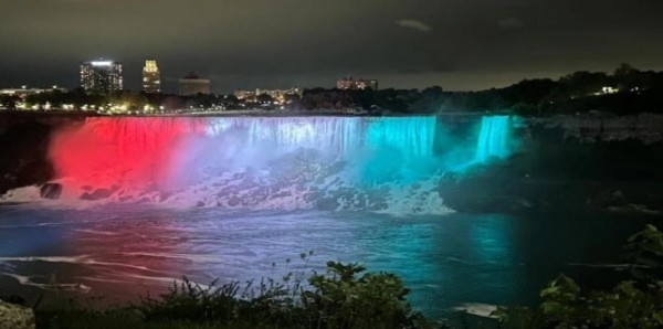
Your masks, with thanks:
M 85 92 L 109 93 L 122 91 L 122 63 L 113 61 L 81 63 L 81 86 Z

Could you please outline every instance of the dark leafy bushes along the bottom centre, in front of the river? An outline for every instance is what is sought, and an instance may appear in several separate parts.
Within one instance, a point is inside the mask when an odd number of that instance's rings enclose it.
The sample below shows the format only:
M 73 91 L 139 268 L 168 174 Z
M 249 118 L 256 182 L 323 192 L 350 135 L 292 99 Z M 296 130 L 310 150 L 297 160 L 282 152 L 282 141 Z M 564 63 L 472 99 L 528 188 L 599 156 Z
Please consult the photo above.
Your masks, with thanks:
M 311 253 L 303 253 L 306 261 Z M 290 266 L 290 259 L 286 266 Z M 275 265 L 275 264 L 273 264 Z M 298 266 L 297 269 L 301 269 Z M 295 270 L 297 270 L 295 269 Z M 286 268 L 287 270 L 287 268 Z M 39 328 L 432 328 L 406 300 L 408 289 L 389 273 L 366 273 L 358 264 L 327 263 L 305 285 L 301 273 L 201 286 L 188 278 L 159 298 L 106 311 L 66 308 L 38 311 Z

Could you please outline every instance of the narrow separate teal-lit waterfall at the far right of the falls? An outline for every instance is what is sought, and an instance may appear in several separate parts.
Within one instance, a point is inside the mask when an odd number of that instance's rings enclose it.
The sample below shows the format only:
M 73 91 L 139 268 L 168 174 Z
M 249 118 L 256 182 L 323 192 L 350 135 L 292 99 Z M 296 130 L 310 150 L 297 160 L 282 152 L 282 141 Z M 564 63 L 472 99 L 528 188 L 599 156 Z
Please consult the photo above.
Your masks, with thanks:
M 474 161 L 484 162 L 493 157 L 507 157 L 511 153 L 508 129 L 508 116 L 483 117 Z

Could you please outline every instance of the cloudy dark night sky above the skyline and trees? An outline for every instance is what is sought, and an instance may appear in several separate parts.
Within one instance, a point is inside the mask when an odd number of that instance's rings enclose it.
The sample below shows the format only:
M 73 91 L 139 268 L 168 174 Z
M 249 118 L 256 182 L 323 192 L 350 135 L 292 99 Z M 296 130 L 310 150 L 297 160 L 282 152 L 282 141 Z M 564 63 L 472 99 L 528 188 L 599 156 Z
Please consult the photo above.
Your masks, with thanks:
M 139 88 L 189 71 L 214 92 L 333 87 L 481 89 L 628 62 L 663 70 L 661 0 L 2 0 L 0 87 L 75 87 L 78 63 L 125 65 Z

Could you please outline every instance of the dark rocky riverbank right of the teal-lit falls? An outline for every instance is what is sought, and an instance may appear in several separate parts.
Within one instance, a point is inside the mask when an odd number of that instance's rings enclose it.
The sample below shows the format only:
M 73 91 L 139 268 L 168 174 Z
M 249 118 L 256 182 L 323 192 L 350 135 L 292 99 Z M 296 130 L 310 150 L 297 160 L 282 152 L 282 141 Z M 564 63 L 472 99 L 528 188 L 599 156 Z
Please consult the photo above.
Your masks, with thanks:
M 663 142 L 643 130 L 583 131 L 538 126 L 520 152 L 446 174 L 440 193 L 463 212 L 662 214 Z

